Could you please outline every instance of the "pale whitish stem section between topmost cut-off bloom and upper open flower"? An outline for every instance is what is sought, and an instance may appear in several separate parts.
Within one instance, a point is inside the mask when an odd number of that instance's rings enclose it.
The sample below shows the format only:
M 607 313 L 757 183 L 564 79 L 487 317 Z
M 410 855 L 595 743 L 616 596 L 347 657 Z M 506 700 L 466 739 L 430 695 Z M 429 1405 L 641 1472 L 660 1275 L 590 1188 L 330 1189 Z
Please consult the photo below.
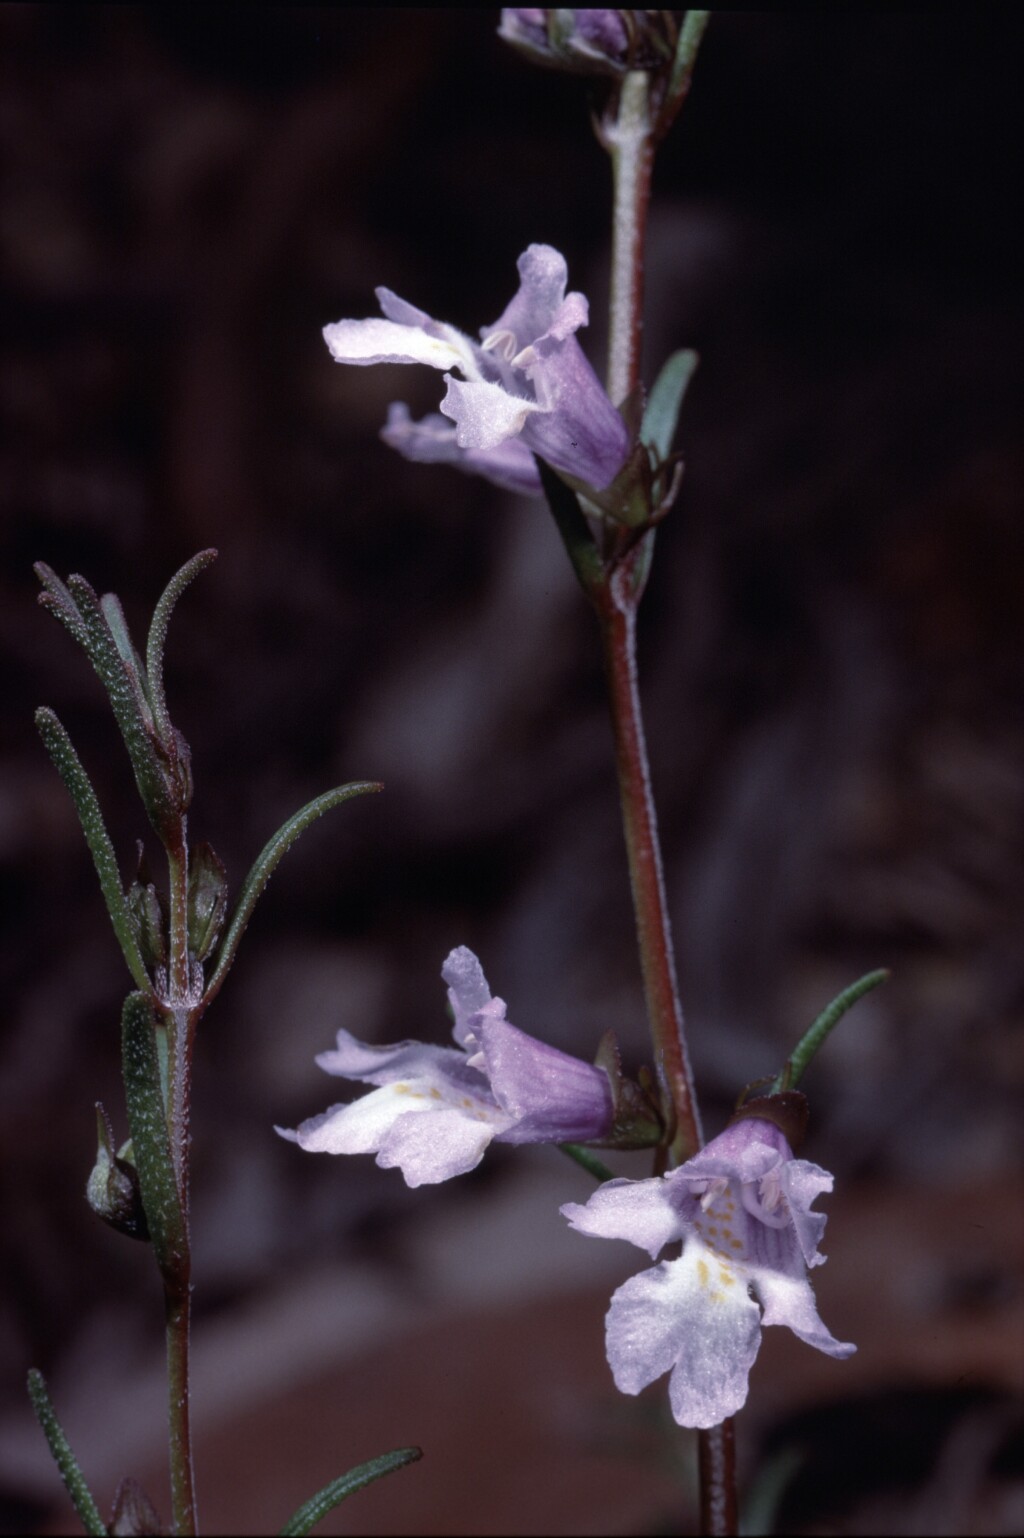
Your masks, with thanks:
M 615 205 L 612 218 L 612 298 L 607 345 L 607 392 L 615 406 L 640 381 L 644 312 L 644 240 L 653 171 L 650 80 L 632 69 L 618 94 L 613 123 L 603 125 L 612 157 Z

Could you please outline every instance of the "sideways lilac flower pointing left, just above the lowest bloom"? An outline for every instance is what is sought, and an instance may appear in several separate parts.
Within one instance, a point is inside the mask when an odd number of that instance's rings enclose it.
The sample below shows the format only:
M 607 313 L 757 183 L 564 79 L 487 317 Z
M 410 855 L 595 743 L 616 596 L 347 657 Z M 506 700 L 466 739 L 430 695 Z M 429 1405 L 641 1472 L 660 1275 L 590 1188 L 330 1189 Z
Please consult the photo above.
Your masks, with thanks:
M 331 1106 L 281 1137 L 309 1154 L 375 1154 L 409 1186 L 475 1169 L 487 1144 L 587 1143 L 612 1126 L 607 1075 L 558 1052 L 504 1018 L 480 961 L 458 946 L 441 967 L 455 1014 L 455 1047 L 398 1041 L 374 1047 L 338 1030 L 327 1074 L 377 1084 L 361 1100 Z

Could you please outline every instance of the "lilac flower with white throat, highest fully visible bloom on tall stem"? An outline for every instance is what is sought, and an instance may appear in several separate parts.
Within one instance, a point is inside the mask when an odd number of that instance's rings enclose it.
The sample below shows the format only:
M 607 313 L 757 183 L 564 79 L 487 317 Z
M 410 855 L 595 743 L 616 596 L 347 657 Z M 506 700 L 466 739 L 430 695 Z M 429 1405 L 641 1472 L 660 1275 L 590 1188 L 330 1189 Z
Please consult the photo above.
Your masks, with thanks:
M 529 246 L 520 291 L 470 341 L 378 288 L 383 320 L 338 320 L 323 335 L 338 363 L 426 363 L 444 374 L 443 415 L 412 421 L 394 404 L 381 437 L 409 460 L 444 461 L 510 491 L 541 495 L 534 454 L 572 481 L 603 491 L 623 468 L 629 434 L 587 363 L 577 331 L 583 294 L 566 294 L 566 258 Z

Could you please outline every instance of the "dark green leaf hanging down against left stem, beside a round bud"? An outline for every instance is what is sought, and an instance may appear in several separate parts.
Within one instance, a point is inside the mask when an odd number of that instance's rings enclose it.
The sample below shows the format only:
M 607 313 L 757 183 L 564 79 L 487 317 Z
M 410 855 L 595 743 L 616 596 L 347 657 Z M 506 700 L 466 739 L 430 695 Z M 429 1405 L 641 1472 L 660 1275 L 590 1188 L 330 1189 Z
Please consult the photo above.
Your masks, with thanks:
M 155 1032 L 152 1000 L 129 994 L 121 1012 L 128 1129 L 157 1264 L 165 1277 L 174 1277 L 188 1255 L 188 1237 L 174 1178 Z

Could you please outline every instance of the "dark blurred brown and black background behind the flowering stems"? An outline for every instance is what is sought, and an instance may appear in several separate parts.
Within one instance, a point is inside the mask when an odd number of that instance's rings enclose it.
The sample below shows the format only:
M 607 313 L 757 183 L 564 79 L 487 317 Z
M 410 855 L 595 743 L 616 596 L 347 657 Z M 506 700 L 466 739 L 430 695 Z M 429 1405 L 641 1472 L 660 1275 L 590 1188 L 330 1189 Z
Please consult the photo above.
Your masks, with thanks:
M 237 884 L 289 854 L 198 1041 L 195 1418 L 208 1530 L 277 1530 L 386 1447 L 424 1461 L 324 1532 L 692 1530 L 664 1384 L 615 1395 L 643 1263 L 557 1215 L 586 1178 L 495 1149 L 406 1190 L 277 1140 L 344 1087 L 338 1026 L 444 1040 L 472 946 L 517 1024 L 627 1063 L 644 1026 L 593 626 L 543 506 L 377 438 L 427 371 L 320 328 L 384 283 L 475 331 L 564 251 L 600 365 L 607 166 L 583 82 L 497 11 L 0 8 L 0 1490 L 74 1530 L 23 1395 L 40 1366 L 101 1503 L 161 1469 L 149 1253 L 81 1198 L 123 1129 L 128 977 L 35 737 L 57 709 L 128 877 L 146 834 L 46 560 L 121 595 L 220 560 L 171 629 L 191 826 Z M 1024 1524 L 1019 1187 L 1021 338 L 1009 12 L 721 12 L 658 163 L 646 377 L 701 368 L 658 537 L 643 687 L 709 1132 L 846 983 L 807 1081 L 836 1172 L 816 1273 L 836 1364 L 769 1332 L 743 1480 L 778 1530 Z M 1015 409 L 1016 408 L 1016 409 Z M 151 849 L 155 860 L 155 851 Z M 643 1164 L 627 1166 L 643 1173 Z M 758 1515 L 760 1513 L 760 1515 Z M 750 1530 L 770 1530 L 769 1526 Z

